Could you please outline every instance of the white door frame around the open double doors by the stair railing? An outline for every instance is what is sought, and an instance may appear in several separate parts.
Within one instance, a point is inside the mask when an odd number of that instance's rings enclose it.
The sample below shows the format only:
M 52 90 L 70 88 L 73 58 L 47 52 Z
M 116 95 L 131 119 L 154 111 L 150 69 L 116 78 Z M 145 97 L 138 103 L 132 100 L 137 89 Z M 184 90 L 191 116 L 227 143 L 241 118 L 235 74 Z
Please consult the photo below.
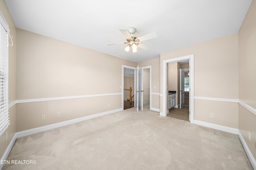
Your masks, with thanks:
M 124 68 L 129 68 L 129 69 L 132 69 L 132 70 L 135 70 L 135 69 L 137 69 L 137 67 L 132 67 L 132 66 L 126 66 L 126 65 L 122 65 L 122 87 L 120 86 L 120 88 L 122 88 L 122 99 L 121 99 L 121 101 L 122 101 L 122 110 L 124 110 Z M 142 67 L 143 69 L 144 68 L 149 68 L 149 109 L 151 110 L 151 108 L 152 108 L 152 102 L 151 102 L 151 99 L 152 99 L 152 95 L 151 95 L 151 75 L 152 75 L 152 69 L 151 69 L 151 65 L 149 65 L 149 66 L 143 66 Z

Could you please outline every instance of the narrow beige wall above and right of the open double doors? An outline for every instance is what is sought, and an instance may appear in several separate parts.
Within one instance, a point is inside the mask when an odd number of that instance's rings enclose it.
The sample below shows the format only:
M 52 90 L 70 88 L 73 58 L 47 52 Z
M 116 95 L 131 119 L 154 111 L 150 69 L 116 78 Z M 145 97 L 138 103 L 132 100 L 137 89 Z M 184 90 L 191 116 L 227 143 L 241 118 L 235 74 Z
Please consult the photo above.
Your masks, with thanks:
M 139 67 L 151 66 L 151 106 L 160 109 L 160 58 L 138 63 Z

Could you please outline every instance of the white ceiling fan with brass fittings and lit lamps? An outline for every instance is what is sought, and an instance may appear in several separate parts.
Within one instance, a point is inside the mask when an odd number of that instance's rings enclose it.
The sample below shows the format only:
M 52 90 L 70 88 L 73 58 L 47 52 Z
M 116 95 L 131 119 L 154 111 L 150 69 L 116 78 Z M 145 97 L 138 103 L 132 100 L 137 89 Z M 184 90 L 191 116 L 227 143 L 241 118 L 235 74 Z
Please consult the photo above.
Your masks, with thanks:
M 137 52 L 137 46 L 144 50 L 148 50 L 149 49 L 148 46 L 143 45 L 141 43 L 139 44 L 138 42 L 146 41 L 146 40 L 153 39 L 153 38 L 157 37 L 156 33 L 152 32 L 152 33 L 149 33 L 142 37 L 137 38 L 137 36 L 134 34 L 136 32 L 136 29 L 134 27 L 130 27 L 128 29 L 119 29 L 119 30 L 124 34 L 124 36 L 126 36 L 126 38 L 127 38 L 126 41 L 120 42 L 120 43 L 111 43 L 111 44 L 107 44 L 107 45 L 128 44 L 124 49 L 127 52 L 129 52 L 131 47 L 132 47 L 133 53 Z

